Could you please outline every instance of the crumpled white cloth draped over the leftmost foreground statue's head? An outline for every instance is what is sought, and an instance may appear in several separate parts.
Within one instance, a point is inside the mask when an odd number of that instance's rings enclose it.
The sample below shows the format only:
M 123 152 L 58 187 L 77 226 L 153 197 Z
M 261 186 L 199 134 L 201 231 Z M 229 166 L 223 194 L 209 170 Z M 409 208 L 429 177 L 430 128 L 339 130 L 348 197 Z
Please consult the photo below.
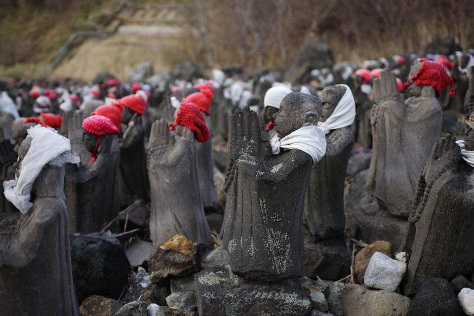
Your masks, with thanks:
M 19 166 L 19 177 L 3 182 L 5 198 L 22 214 L 33 206 L 30 202 L 31 189 L 41 169 L 47 164 L 62 166 L 66 162 L 78 163 L 79 157 L 71 154 L 69 139 L 59 135 L 52 128 L 40 124 L 28 129 L 32 138 L 30 149 Z

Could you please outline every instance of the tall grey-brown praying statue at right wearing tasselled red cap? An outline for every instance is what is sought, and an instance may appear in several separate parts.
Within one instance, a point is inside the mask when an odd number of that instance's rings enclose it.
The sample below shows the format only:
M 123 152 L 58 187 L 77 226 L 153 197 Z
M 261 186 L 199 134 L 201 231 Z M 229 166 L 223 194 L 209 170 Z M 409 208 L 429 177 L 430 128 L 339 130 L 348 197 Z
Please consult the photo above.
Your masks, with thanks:
M 433 67 L 438 71 L 435 75 Z M 441 106 L 436 96 L 447 86 L 443 80 L 450 79 L 441 64 L 426 59 L 415 62 L 410 75 L 412 97 L 405 102 L 390 70 L 382 71 L 374 81 L 374 148 L 367 178 L 369 193 L 391 215 L 401 217 L 408 216 L 416 177 L 441 134 Z

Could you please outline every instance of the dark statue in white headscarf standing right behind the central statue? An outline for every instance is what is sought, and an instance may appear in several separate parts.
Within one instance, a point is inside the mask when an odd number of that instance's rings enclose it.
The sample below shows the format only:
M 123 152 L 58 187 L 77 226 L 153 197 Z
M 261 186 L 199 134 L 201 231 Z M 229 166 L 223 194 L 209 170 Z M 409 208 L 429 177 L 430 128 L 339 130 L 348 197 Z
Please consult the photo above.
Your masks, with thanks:
M 320 95 L 318 126 L 326 133 L 326 154 L 313 165 L 306 194 L 305 217 L 316 239 L 344 235 L 344 184 L 354 144 L 351 124 L 356 105 L 345 84 L 328 86 Z

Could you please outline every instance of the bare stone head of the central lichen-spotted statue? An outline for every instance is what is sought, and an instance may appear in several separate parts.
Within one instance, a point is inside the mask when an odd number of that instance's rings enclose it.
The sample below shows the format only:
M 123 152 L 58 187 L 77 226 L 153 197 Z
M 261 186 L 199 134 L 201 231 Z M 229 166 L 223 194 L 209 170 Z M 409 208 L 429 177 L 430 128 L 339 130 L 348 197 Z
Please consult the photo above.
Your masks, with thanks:
M 283 138 L 301 127 L 316 125 L 321 114 L 321 100 L 318 97 L 291 92 L 281 100 L 280 109 L 274 115 L 276 133 Z

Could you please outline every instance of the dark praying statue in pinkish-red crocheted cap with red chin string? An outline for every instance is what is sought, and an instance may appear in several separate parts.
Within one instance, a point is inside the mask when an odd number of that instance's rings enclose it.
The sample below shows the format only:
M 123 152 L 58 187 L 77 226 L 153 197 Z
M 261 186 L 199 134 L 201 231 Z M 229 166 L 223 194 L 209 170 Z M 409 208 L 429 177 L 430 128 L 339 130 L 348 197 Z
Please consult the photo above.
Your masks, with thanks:
M 72 233 L 98 232 L 120 210 L 118 128 L 110 118 L 102 115 L 85 118 L 82 128 L 78 117 L 74 117 L 73 121 L 69 126 L 69 135 L 74 138 L 71 143 L 78 143 L 81 137 L 92 159 L 85 166 L 68 165 L 66 168 L 69 227 Z

